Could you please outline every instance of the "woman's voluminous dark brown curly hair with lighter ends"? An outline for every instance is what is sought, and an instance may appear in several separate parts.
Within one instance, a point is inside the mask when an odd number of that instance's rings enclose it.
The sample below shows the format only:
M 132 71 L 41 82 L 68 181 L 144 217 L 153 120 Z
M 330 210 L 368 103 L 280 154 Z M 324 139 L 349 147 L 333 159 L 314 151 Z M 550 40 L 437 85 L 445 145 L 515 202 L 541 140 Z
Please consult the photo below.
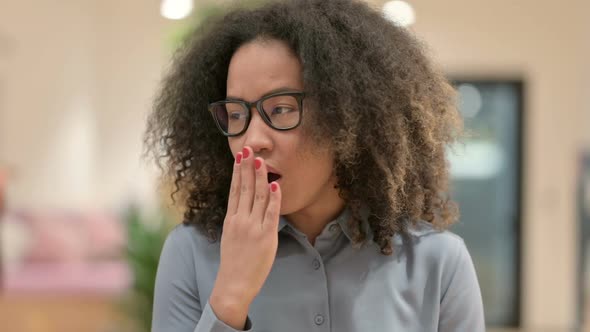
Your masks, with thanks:
M 148 118 L 145 144 L 180 194 L 185 224 L 220 234 L 233 156 L 208 103 L 225 98 L 230 59 L 254 40 L 286 42 L 303 67 L 305 133 L 330 146 L 353 244 L 383 254 L 419 220 L 458 218 L 445 148 L 462 134 L 456 92 L 407 29 L 361 1 L 291 0 L 235 8 L 197 28 L 174 55 Z M 308 97 L 306 97 L 308 98 Z M 307 99 L 306 99 L 307 100 Z M 321 114 L 321 116 L 319 116 Z

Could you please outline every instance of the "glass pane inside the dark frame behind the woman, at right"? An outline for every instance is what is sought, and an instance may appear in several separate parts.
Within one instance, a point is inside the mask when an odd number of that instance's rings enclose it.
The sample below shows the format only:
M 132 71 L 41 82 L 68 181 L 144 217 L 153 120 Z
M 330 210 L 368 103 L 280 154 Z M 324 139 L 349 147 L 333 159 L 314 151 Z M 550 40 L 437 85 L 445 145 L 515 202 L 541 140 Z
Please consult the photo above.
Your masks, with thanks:
M 519 323 L 522 84 L 454 82 L 469 134 L 448 151 L 452 195 L 477 270 L 488 325 Z

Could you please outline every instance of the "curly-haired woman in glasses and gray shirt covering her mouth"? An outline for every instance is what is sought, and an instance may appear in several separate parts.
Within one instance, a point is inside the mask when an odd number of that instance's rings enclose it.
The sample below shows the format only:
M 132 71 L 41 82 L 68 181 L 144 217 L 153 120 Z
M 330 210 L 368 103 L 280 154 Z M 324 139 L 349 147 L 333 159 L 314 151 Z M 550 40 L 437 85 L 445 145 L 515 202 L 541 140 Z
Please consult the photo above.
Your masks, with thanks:
M 444 231 L 454 97 L 362 2 L 270 3 L 195 32 L 146 136 L 186 207 L 153 331 L 484 331 Z

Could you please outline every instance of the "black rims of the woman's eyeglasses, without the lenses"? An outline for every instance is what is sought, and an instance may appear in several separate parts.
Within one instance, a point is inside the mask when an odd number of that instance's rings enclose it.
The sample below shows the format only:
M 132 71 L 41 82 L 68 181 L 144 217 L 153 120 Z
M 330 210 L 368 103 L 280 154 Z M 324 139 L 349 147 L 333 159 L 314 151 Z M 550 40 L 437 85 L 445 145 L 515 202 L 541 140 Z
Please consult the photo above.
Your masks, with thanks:
M 299 121 L 297 121 L 297 123 L 295 125 L 287 127 L 287 128 L 275 127 L 272 124 L 272 122 L 270 121 L 270 118 L 268 117 L 266 112 L 264 112 L 264 110 L 262 109 L 262 103 L 265 100 L 273 98 L 273 97 L 278 97 L 278 96 L 292 96 L 292 97 L 295 97 L 295 99 L 297 100 L 297 106 L 299 107 Z M 303 119 L 303 98 L 305 98 L 305 92 L 303 92 L 303 91 L 281 91 L 281 92 L 271 93 L 269 95 L 263 96 L 262 98 L 260 98 L 256 101 L 253 101 L 253 102 L 247 102 L 247 101 L 240 100 L 240 99 L 226 99 L 226 100 L 220 100 L 220 101 L 210 103 L 209 104 L 209 112 L 211 113 L 211 116 L 213 117 L 213 120 L 215 121 L 215 125 L 217 126 L 219 131 L 221 131 L 221 133 L 227 137 L 240 136 L 244 132 L 246 132 L 246 130 L 248 130 L 248 127 L 250 126 L 250 120 L 252 119 L 252 106 L 256 106 L 256 110 L 258 111 L 258 114 L 260 114 L 260 116 L 262 117 L 262 120 L 264 120 L 264 122 L 269 127 L 271 127 L 272 129 L 275 129 L 275 130 L 286 131 L 286 130 L 295 129 L 295 128 L 299 127 L 299 125 L 301 124 L 301 120 Z M 242 129 L 239 133 L 236 133 L 236 134 L 226 133 L 223 130 L 223 128 L 221 127 L 221 125 L 219 124 L 219 120 L 217 119 L 217 116 L 215 115 L 214 108 L 216 106 L 225 105 L 228 103 L 241 104 L 248 111 L 248 119 L 246 120 L 246 125 L 244 126 L 244 129 Z

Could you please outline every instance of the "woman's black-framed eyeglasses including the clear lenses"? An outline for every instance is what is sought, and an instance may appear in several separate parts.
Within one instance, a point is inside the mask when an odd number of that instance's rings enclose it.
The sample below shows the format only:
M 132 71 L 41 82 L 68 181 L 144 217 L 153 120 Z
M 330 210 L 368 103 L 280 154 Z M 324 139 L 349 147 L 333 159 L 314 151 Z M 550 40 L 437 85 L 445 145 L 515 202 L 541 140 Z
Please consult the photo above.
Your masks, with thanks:
M 284 91 L 266 95 L 254 102 L 222 100 L 209 104 L 215 124 L 228 137 L 243 134 L 252 119 L 256 106 L 264 122 L 276 130 L 290 130 L 301 124 L 304 92 Z

